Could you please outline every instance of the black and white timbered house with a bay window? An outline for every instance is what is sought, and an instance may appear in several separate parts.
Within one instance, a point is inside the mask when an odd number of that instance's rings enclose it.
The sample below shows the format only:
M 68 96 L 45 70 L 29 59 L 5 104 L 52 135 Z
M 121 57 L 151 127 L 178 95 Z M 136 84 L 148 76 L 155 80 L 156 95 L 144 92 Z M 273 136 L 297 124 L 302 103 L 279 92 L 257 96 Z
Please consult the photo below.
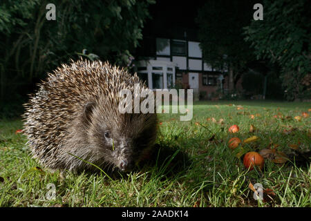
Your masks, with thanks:
M 151 89 L 191 88 L 194 99 L 211 99 L 227 89 L 227 70 L 215 70 L 202 58 L 200 42 L 183 36 L 146 37 L 138 52 L 135 72 Z

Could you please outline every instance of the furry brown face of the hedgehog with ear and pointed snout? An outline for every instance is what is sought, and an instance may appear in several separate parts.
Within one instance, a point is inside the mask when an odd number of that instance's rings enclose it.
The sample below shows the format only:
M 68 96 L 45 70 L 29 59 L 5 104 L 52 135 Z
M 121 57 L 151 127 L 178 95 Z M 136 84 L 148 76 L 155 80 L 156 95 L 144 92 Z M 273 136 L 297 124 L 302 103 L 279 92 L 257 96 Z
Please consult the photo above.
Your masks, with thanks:
M 142 137 L 132 128 L 138 119 L 130 115 L 116 115 L 115 120 L 111 120 L 99 113 L 102 111 L 92 102 L 84 107 L 88 144 L 93 147 L 93 155 L 97 155 L 94 163 L 108 163 L 121 171 L 131 171 L 134 159 L 138 159 L 144 148 L 144 144 L 140 145 Z

